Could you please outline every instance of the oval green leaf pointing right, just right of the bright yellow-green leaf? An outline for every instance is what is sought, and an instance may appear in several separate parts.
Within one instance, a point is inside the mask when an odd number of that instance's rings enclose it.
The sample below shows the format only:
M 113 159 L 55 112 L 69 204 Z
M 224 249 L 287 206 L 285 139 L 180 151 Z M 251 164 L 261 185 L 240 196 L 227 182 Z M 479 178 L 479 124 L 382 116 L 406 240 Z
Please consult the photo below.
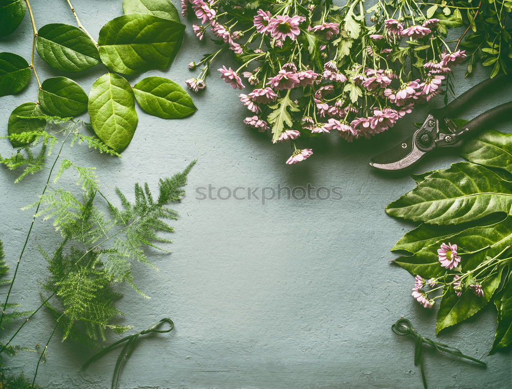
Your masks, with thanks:
M 167 78 L 144 78 L 135 84 L 133 90 L 141 108 L 162 119 L 180 119 L 197 111 L 188 93 Z

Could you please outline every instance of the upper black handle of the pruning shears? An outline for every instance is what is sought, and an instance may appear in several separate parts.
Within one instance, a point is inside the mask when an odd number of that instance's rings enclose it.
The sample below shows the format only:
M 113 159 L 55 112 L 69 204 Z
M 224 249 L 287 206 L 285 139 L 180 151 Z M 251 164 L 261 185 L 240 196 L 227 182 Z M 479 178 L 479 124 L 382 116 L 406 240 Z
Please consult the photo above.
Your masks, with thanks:
M 431 114 L 437 119 L 444 119 L 447 117 L 455 118 L 458 114 L 467 109 L 470 104 L 480 101 L 485 97 L 485 95 L 493 90 L 502 89 L 503 84 L 510 81 L 512 81 L 512 77 L 504 74 L 494 78 L 488 78 L 485 81 L 476 84 L 473 88 L 468 89 L 446 106 L 433 109 Z

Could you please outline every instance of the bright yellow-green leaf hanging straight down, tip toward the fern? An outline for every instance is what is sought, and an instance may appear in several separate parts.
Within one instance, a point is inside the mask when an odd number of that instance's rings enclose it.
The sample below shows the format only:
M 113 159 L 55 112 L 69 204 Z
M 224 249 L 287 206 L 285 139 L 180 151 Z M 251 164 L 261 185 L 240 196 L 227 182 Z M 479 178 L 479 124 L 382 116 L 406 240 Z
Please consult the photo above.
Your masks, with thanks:
M 98 78 L 89 94 L 89 115 L 98 138 L 117 153 L 122 152 L 132 141 L 138 122 L 128 81 L 113 73 Z

